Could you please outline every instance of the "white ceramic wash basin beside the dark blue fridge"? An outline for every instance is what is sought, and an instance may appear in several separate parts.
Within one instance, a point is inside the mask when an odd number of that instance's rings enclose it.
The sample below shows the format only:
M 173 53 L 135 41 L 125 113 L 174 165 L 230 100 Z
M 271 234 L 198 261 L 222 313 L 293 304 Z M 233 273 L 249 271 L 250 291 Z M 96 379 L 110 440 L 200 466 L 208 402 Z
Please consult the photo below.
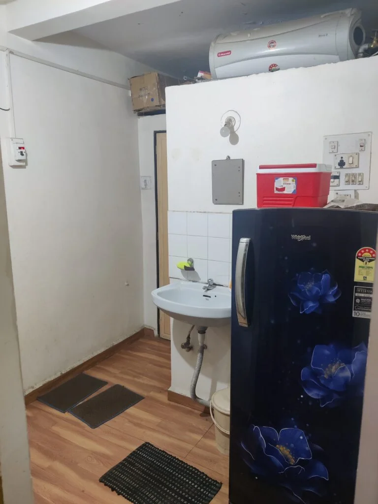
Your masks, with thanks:
M 156 306 L 173 319 L 194 326 L 219 327 L 231 320 L 231 291 L 217 285 L 205 291 L 204 284 L 176 282 L 152 291 Z

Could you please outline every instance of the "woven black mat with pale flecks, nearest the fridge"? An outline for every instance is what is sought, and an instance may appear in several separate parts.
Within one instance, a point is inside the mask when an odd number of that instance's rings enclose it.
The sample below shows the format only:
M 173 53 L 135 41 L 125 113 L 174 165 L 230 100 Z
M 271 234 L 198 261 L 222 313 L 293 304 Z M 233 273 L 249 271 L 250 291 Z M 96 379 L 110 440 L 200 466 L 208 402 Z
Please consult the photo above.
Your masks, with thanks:
M 222 486 L 150 443 L 134 450 L 99 481 L 134 504 L 209 504 Z

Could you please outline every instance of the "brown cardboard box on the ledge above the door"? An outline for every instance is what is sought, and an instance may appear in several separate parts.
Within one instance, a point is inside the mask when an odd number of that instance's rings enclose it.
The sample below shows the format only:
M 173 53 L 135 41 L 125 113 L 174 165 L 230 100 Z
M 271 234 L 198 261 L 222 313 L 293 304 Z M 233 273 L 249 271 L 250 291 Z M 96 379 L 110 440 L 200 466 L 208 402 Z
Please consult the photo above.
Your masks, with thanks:
M 131 97 L 135 112 L 150 112 L 165 108 L 165 88 L 177 86 L 178 79 L 152 72 L 130 79 Z

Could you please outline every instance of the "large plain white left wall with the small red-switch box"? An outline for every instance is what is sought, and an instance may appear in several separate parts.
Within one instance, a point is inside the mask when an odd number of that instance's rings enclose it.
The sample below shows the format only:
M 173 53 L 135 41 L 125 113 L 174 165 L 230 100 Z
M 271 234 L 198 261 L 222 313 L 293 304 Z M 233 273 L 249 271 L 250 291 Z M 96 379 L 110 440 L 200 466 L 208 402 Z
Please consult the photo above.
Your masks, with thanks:
M 26 169 L 4 158 L 28 391 L 143 326 L 138 123 L 124 89 L 14 55 L 11 74 L 28 149 Z

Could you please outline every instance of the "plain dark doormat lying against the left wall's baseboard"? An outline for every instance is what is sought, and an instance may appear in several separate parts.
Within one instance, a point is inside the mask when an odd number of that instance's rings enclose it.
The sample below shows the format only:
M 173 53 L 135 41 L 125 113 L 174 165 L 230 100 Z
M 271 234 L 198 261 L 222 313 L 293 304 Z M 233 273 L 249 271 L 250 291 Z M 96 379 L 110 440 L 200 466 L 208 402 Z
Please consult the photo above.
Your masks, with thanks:
M 69 409 L 104 387 L 104 385 L 107 385 L 107 382 L 82 373 L 59 385 L 56 389 L 47 392 L 47 394 L 38 397 L 38 401 L 66 413 Z

